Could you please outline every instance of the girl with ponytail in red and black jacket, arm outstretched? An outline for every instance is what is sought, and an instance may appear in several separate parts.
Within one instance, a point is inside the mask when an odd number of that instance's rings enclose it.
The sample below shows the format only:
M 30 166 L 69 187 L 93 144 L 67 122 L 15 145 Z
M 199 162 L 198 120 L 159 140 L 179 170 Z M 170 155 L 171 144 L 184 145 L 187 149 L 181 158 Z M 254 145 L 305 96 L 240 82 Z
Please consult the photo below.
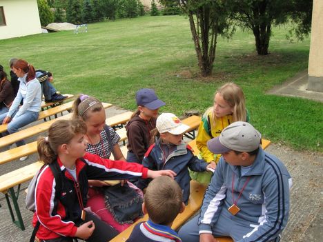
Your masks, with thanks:
M 171 170 L 152 171 L 137 163 L 101 159 L 86 152 L 86 124 L 81 120 L 61 120 L 50 126 L 48 137 L 39 138 L 39 157 L 44 163 L 57 162 L 61 170 L 61 184 L 48 165 L 37 178 L 33 225 L 39 221 L 37 237 L 40 241 L 109 241 L 117 232 L 87 212 L 88 179 L 112 180 L 175 176 Z M 56 188 L 60 188 L 57 197 Z

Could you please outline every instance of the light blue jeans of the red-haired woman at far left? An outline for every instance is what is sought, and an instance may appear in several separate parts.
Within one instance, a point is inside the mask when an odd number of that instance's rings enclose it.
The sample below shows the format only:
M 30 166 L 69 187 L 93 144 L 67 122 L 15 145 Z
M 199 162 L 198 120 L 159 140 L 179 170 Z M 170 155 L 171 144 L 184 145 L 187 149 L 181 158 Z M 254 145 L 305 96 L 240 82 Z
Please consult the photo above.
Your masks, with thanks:
M 7 132 L 3 132 L 3 134 L 6 135 L 6 134 L 13 134 L 15 132 L 18 132 L 19 128 L 25 125 L 28 125 L 33 121 L 36 121 L 39 117 L 39 112 L 32 112 L 32 111 L 26 111 L 23 114 L 21 114 L 19 117 L 16 117 L 18 110 L 19 109 L 17 109 L 12 114 L 11 121 L 10 123 L 8 123 Z M 3 119 L 6 118 L 6 116 L 7 116 L 7 112 L 0 115 L 0 123 L 2 123 Z M 23 140 L 16 142 L 17 147 L 25 144 L 26 142 Z

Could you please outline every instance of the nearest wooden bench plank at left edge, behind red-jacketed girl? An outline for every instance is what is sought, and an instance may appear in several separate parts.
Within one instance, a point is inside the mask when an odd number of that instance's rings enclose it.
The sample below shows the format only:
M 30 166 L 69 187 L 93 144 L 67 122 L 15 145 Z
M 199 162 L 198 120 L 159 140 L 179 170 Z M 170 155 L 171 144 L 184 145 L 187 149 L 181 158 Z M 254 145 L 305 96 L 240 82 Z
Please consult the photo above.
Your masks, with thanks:
M 15 185 L 19 185 L 25 181 L 29 181 L 34 177 L 37 170 L 41 168 L 40 161 L 26 165 L 23 168 L 8 172 L 0 176 L 0 192 L 5 193 L 9 188 L 13 188 Z

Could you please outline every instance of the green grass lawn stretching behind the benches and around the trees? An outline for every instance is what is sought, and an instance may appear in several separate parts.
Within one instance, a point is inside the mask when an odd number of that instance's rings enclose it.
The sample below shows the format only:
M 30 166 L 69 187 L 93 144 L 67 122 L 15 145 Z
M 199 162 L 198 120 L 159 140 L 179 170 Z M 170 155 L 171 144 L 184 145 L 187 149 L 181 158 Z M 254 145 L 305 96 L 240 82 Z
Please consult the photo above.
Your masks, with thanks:
M 135 92 L 154 88 L 166 102 L 162 112 L 201 114 L 226 81 L 242 86 L 251 123 L 266 139 L 293 148 L 322 152 L 323 105 L 315 101 L 265 94 L 307 68 L 309 39 L 289 43 L 288 26 L 274 28 L 270 52 L 258 57 L 251 32 L 217 41 L 213 77 L 202 78 L 188 19 L 139 17 L 94 23 L 88 33 L 37 34 L 0 41 L 0 63 L 26 59 L 54 74 L 61 92 L 86 93 L 135 110 Z M 8 71 L 8 68 L 6 68 Z

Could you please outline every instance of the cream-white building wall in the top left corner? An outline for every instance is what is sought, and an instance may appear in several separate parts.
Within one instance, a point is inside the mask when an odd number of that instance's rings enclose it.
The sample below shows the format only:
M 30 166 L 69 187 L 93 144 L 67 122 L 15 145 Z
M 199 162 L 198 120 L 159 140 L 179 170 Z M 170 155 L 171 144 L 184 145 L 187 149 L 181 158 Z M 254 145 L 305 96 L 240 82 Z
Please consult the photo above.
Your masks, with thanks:
M 0 26 L 0 39 L 41 33 L 37 0 L 0 0 L 6 26 Z

